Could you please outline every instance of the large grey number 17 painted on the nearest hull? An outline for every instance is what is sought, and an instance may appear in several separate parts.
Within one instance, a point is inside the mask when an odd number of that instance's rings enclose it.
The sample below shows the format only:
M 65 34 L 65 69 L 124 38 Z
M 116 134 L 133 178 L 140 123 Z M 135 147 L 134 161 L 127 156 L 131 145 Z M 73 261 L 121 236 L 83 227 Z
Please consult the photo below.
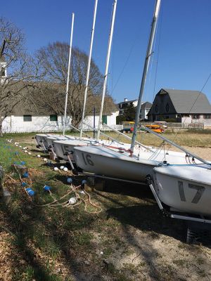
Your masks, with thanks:
M 180 200 L 183 202 L 186 202 L 187 200 L 186 200 L 186 195 L 185 195 L 185 189 L 184 189 L 184 184 L 182 181 L 178 181 L 178 188 L 179 188 Z M 195 185 L 192 183 L 188 183 L 188 188 L 196 190 L 196 194 L 193 196 L 191 203 L 197 204 L 200 201 L 200 199 L 203 195 L 203 192 L 205 192 L 205 187 L 202 185 Z

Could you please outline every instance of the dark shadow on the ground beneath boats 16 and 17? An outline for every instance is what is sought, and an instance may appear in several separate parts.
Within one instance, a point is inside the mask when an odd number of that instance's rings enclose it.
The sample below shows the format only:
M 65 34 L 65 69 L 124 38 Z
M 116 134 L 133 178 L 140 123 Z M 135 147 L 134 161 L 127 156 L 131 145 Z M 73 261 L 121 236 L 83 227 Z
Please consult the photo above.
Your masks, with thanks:
M 127 202 L 121 203 L 119 200 L 114 200 L 107 192 L 139 198 L 140 201 L 136 202 L 135 206 L 131 206 Z M 110 207 L 108 204 L 108 217 L 112 216 L 124 225 L 134 226 L 143 231 L 154 231 L 185 242 L 186 224 L 184 221 L 163 216 L 147 185 L 108 181 L 106 182 L 106 192 L 96 191 L 96 193 L 99 198 L 119 206 L 118 208 Z M 106 203 L 103 201 L 103 204 Z

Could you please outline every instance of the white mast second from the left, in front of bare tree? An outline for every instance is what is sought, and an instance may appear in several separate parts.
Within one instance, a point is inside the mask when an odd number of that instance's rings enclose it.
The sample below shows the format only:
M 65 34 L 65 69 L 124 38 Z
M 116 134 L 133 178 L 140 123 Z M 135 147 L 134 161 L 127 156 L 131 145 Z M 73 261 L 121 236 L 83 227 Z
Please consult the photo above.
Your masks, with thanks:
M 80 139 L 82 138 L 82 133 L 83 133 L 84 115 L 85 115 L 86 103 L 87 103 L 87 90 L 88 90 L 88 84 L 89 84 L 89 71 L 90 71 L 90 64 L 91 64 L 91 52 L 92 52 L 92 45 L 93 45 L 93 39 L 94 39 L 94 27 L 95 27 L 95 22 L 96 22 L 97 6 L 98 6 L 98 0 L 95 0 L 94 18 L 93 18 L 93 24 L 92 24 L 92 30 L 91 30 L 91 41 L 90 41 L 90 48 L 89 48 L 89 60 L 88 60 L 88 65 L 87 65 L 87 79 L 86 79 L 86 86 L 85 86 L 85 93 L 84 93 L 84 107 L 83 107 L 83 112 L 82 112 Z

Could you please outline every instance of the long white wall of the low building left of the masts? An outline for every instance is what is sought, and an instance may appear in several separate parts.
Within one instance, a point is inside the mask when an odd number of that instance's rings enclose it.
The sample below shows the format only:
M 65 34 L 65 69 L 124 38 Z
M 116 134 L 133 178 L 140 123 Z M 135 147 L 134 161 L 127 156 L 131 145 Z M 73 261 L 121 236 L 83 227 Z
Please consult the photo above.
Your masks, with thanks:
M 68 117 L 70 122 L 70 117 Z M 70 126 L 67 125 L 67 129 Z M 32 116 L 32 121 L 23 121 L 23 116 L 11 115 L 4 119 L 2 124 L 4 133 L 24 133 L 30 131 L 61 131 L 63 129 L 63 116 L 58 116 L 58 121 L 50 121 L 49 116 Z

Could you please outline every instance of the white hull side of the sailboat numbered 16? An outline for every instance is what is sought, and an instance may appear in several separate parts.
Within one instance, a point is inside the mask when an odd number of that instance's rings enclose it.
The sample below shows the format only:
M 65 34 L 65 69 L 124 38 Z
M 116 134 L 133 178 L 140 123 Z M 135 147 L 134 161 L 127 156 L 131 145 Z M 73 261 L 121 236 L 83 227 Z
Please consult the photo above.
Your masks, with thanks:
M 122 155 L 108 148 L 77 147 L 75 162 L 79 168 L 94 174 L 122 178 L 130 181 L 145 181 L 147 174 L 152 174 L 157 161 L 139 160 Z

